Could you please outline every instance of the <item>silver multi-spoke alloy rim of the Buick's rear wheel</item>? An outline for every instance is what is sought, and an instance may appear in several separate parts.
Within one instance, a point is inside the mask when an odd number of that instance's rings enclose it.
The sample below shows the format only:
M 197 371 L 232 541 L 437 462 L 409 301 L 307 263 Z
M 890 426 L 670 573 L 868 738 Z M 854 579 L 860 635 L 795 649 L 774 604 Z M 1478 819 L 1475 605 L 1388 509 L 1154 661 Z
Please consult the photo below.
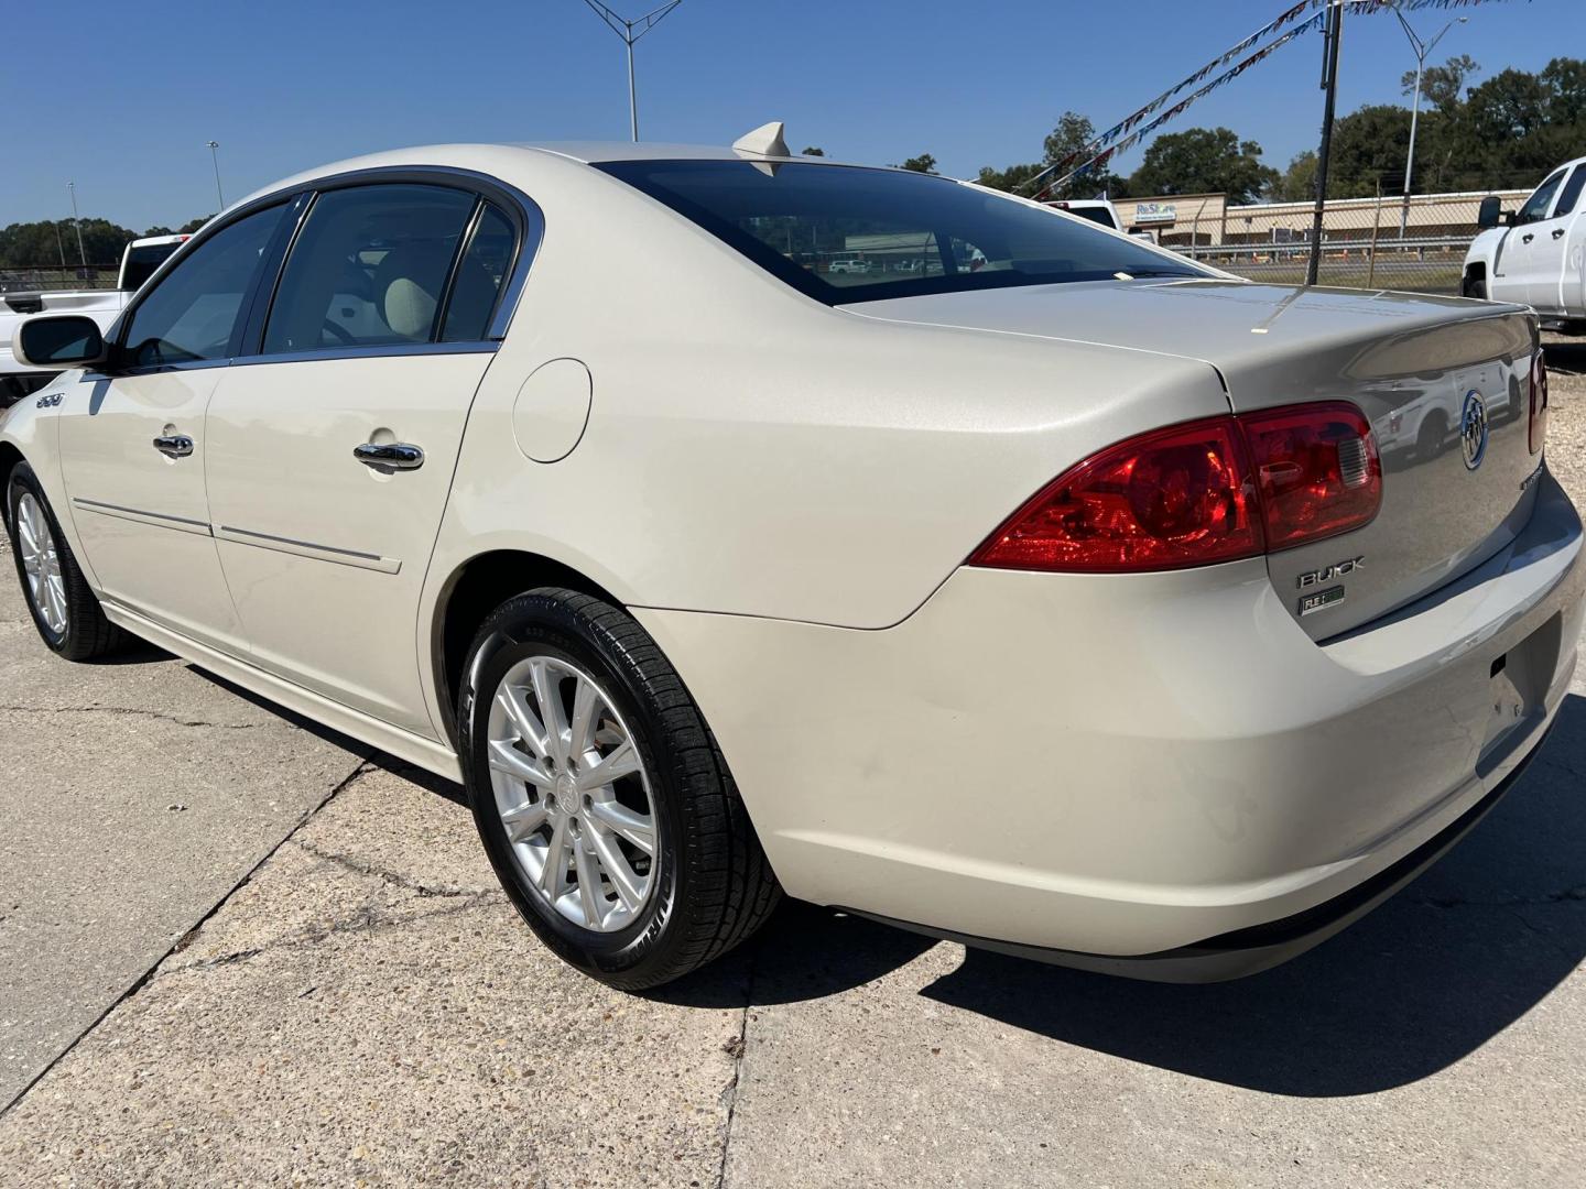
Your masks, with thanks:
M 638 918 L 657 886 L 655 805 L 633 732 L 587 672 L 519 661 L 488 717 L 490 786 L 534 894 L 593 932 Z

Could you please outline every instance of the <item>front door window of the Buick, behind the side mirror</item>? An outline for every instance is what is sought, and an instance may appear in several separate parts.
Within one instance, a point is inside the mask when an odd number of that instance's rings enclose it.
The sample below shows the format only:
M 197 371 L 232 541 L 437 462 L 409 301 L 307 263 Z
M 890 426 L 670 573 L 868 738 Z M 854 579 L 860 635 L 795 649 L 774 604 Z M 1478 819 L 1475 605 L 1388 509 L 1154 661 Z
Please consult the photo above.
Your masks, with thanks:
M 122 338 L 132 366 L 224 360 L 259 260 L 285 203 L 238 219 L 200 243 L 136 309 Z

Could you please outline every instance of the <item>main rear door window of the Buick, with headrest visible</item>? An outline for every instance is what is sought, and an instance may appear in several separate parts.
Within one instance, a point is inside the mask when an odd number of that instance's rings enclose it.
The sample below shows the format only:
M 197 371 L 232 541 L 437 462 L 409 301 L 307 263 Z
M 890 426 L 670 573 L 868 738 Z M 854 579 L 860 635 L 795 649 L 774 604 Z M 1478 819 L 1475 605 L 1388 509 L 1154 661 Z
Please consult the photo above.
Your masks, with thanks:
M 320 193 L 281 273 L 265 354 L 430 342 L 474 203 L 444 185 Z

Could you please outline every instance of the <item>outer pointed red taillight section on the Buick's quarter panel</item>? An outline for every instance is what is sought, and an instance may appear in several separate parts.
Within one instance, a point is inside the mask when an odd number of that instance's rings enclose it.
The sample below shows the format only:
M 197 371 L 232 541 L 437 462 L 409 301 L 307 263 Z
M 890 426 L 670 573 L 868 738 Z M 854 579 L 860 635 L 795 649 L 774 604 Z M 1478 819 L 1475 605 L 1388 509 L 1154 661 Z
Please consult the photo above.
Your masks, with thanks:
M 1102 450 L 1015 512 L 974 566 L 1118 572 L 1261 553 L 1255 479 L 1231 417 Z

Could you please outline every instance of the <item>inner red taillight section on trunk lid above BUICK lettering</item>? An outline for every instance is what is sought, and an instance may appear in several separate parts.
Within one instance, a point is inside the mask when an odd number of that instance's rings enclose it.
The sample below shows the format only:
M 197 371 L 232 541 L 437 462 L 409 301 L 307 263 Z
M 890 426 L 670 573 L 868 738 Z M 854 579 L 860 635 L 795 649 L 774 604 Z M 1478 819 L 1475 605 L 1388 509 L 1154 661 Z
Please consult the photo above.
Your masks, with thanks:
M 1348 533 L 1377 515 L 1383 463 L 1366 414 L 1305 404 L 1239 419 L 1250 441 L 1267 549 Z

